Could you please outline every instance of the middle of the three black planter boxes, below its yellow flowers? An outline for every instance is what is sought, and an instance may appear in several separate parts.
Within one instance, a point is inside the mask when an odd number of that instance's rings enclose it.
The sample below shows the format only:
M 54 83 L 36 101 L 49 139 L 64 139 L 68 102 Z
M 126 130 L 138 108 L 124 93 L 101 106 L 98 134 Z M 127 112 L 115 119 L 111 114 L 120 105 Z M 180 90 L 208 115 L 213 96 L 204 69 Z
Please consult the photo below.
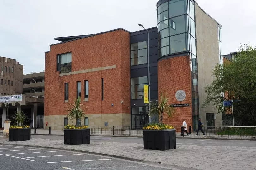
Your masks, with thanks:
M 64 129 L 64 144 L 80 145 L 90 143 L 90 128 Z

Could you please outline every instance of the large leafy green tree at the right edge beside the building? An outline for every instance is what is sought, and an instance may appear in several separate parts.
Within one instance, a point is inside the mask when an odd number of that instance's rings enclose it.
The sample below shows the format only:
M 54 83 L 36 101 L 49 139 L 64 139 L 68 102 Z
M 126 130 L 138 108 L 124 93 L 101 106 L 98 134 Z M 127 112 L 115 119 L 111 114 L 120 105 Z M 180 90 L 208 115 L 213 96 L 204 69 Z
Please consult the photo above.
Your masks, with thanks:
M 210 103 L 225 113 L 223 100 L 233 100 L 234 119 L 244 126 L 256 125 L 256 48 L 241 45 L 230 63 L 217 64 L 215 80 L 205 87 L 203 107 Z M 223 93 L 228 94 L 222 97 Z

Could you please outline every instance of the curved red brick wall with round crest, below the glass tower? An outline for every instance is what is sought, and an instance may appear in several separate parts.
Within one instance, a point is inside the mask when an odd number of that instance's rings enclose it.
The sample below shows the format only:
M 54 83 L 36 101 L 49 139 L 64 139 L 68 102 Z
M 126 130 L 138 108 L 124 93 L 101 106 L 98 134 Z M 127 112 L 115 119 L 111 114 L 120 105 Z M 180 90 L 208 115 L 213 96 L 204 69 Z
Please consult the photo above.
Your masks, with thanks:
M 186 98 L 179 102 L 175 93 L 183 90 Z M 163 122 L 172 126 L 181 126 L 183 119 L 192 128 L 191 71 L 189 56 L 179 56 L 158 61 L 158 94 L 167 94 L 170 104 L 186 104 L 189 107 L 175 107 L 175 115 L 170 119 L 164 114 Z

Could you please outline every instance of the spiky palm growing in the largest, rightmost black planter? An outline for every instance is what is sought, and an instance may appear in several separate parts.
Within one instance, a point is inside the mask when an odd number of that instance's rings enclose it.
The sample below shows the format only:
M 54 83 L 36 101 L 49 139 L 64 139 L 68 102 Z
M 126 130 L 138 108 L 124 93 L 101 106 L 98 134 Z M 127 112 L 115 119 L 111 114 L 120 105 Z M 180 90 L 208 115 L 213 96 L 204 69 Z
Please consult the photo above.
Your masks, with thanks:
M 152 115 L 158 115 L 159 116 L 159 120 L 162 123 L 163 120 L 163 113 L 165 112 L 168 117 L 173 118 L 174 114 L 175 114 L 175 110 L 174 107 L 172 107 L 169 103 L 168 103 L 169 98 L 167 97 L 167 95 L 163 95 L 162 93 L 160 94 L 160 100 L 156 101 L 156 102 L 150 102 L 150 110 L 149 110 L 149 116 Z

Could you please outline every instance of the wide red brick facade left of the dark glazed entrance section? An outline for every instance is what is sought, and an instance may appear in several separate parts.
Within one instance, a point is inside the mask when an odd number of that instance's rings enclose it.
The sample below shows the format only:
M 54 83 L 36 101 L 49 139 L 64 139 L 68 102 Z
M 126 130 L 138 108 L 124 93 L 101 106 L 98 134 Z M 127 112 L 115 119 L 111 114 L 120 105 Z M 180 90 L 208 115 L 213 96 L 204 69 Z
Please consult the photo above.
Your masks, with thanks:
M 114 66 L 116 68 L 60 76 L 57 55 L 72 52 L 71 71 Z M 101 78 L 104 79 L 104 100 L 101 100 Z M 64 103 L 64 83 L 69 83 L 69 103 L 76 99 L 76 82 L 89 81 L 89 101 L 84 104 L 86 114 L 130 114 L 130 34 L 122 29 L 50 46 L 45 54 L 45 110 L 44 115 L 67 115 Z M 121 100 L 124 103 L 120 103 Z M 111 106 L 113 104 L 113 106 Z

